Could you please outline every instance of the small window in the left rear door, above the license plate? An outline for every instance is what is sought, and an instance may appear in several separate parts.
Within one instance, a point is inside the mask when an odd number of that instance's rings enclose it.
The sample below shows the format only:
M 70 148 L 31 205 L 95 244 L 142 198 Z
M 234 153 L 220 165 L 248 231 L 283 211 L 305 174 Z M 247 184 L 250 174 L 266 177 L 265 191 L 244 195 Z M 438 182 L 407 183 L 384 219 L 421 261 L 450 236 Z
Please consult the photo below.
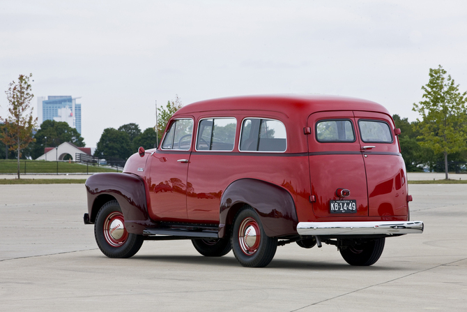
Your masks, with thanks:
M 318 121 L 315 133 L 318 142 L 355 142 L 352 121 L 346 119 Z

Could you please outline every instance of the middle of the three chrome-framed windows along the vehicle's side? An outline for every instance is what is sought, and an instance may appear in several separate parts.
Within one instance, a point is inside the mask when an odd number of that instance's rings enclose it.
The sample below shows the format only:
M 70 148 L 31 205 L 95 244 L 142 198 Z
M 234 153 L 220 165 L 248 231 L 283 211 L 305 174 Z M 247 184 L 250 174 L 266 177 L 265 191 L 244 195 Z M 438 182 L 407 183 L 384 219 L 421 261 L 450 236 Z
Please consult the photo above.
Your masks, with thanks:
M 237 119 L 210 118 L 199 121 L 197 151 L 232 151 Z

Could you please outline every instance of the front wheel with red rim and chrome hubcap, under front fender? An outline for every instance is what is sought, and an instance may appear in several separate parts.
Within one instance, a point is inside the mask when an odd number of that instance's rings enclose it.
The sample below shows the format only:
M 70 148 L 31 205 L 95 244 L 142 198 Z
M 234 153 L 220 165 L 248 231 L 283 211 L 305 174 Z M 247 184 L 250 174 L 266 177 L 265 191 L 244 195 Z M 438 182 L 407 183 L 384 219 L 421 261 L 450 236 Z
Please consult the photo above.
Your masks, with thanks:
M 112 225 L 112 226 L 111 226 Z M 106 202 L 95 216 L 95 242 L 109 258 L 130 258 L 143 244 L 143 235 L 128 233 L 116 200 Z

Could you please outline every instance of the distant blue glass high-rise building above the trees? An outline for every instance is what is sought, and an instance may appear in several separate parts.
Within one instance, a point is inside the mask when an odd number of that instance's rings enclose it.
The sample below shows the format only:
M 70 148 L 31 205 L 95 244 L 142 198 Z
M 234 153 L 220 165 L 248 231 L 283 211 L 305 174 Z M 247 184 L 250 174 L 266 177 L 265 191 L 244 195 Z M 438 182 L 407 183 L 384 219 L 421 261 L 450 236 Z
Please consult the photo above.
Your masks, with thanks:
M 38 96 L 38 125 L 46 120 L 64 121 L 81 134 L 81 103 L 76 103 L 78 98 Z

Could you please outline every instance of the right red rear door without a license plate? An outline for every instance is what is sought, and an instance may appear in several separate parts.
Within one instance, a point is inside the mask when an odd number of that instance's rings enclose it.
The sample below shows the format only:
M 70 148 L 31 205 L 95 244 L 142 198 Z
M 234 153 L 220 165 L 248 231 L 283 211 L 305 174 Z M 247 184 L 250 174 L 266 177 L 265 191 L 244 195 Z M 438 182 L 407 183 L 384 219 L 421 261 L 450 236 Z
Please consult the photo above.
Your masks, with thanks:
M 407 214 L 407 178 L 392 119 L 354 112 L 367 171 L 369 216 Z

